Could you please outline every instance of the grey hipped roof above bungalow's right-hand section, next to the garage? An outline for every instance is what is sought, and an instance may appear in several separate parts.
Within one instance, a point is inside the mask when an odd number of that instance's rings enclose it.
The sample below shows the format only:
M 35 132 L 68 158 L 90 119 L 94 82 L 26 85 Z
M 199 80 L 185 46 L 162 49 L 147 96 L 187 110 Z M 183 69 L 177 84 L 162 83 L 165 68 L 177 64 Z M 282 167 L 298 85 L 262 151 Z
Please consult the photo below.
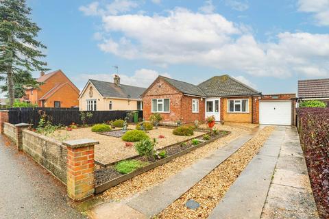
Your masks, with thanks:
M 261 92 L 250 88 L 229 75 L 215 76 L 198 85 L 206 96 L 250 96 Z

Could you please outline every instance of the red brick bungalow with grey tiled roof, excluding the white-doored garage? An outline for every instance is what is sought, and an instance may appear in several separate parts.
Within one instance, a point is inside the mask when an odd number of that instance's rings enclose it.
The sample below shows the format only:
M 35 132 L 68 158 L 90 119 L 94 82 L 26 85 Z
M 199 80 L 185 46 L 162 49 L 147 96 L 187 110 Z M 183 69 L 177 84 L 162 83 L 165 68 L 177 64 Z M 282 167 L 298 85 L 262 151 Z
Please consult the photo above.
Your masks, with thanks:
M 159 76 L 142 94 L 143 116 L 162 115 L 162 123 L 193 123 L 215 116 L 217 121 L 259 123 L 261 92 L 229 75 L 212 77 L 199 85 Z

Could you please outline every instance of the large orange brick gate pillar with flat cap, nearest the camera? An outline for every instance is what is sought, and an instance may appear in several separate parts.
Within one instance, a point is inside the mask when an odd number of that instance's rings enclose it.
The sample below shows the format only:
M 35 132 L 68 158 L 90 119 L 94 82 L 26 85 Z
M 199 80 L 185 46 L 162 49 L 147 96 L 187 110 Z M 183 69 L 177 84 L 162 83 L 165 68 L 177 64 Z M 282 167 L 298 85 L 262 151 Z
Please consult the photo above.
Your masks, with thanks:
M 95 192 L 94 146 L 99 142 L 80 139 L 62 144 L 67 148 L 67 194 L 74 201 L 92 196 Z

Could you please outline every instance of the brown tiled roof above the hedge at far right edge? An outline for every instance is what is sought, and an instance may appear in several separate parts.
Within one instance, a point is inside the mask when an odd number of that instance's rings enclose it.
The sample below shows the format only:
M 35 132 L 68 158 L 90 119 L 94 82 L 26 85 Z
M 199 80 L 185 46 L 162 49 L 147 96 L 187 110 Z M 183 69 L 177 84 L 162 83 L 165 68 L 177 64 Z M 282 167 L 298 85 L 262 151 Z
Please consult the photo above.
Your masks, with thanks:
M 298 97 L 329 97 L 329 79 L 313 79 L 298 81 Z

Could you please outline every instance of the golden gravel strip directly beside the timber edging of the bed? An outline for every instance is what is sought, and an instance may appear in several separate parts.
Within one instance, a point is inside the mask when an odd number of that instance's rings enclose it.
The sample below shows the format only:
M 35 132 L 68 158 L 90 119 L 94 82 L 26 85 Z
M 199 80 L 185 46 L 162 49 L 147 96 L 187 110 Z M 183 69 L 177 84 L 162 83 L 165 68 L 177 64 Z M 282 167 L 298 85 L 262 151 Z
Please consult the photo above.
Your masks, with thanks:
M 220 130 L 230 131 L 230 135 L 224 136 L 223 138 L 215 140 L 215 142 L 211 142 L 210 144 L 206 144 L 191 153 L 183 155 L 182 157 L 177 157 L 167 164 L 158 166 L 148 172 L 120 183 L 119 185 L 116 185 L 104 192 L 101 197 L 104 198 L 105 201 L 118 201 L 122 198 L 129 198 L 129 196 L 132 196 L 138 192 L 143 192 L 147 188 L 151 188 L 152 186 L 161 183 L 164 179 L 167 179 L 171 175 L 175 175 L 187 166 L 191 166 L 198 159 L 207 157 L 210 153 L 212 153 L 212 151 L 228 144 L 232 140 L 241 136 L 241 134 L 252 131 L 252 129 L 256 126 L 252 125 L 249 127 L 240 128 L 237 126 L 232 127 L 228 125 L 216 125 L 216 127 Z

